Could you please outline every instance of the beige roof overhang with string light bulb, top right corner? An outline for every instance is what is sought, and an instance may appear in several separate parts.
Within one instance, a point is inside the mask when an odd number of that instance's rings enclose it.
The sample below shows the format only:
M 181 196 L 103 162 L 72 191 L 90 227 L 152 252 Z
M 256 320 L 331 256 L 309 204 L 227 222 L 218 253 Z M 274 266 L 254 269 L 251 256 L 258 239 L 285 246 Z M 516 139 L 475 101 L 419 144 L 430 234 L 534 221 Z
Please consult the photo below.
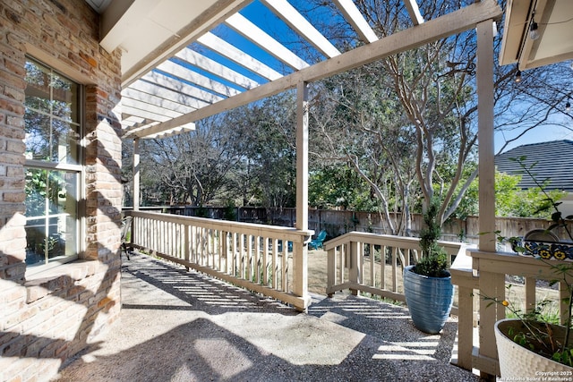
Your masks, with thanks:
M 537 39 L 530 37 L 533 22 Z M 523 71 L 569 59 L 573 59 L 573 1 L 508 1 L 500 64 L 518 64 Z

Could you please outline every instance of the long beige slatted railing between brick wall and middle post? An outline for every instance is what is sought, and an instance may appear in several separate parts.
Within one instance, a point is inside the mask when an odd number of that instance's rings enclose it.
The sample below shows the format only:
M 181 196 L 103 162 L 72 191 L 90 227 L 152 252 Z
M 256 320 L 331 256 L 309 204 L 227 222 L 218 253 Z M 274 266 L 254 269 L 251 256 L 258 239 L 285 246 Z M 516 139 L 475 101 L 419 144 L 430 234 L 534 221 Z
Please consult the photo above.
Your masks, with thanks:
M 130 211 L 131 245 L 306 310 L 312 231 Z

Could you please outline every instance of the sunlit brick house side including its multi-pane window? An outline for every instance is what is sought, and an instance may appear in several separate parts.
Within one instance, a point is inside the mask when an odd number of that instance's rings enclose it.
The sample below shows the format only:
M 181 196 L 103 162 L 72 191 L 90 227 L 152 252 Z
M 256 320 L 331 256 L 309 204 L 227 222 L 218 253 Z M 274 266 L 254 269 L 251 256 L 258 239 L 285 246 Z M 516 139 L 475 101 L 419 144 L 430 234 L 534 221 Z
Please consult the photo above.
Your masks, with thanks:
M 0 380 L 39 381 L 120 311 L 121 52 L 85 1 L 0 26 Z

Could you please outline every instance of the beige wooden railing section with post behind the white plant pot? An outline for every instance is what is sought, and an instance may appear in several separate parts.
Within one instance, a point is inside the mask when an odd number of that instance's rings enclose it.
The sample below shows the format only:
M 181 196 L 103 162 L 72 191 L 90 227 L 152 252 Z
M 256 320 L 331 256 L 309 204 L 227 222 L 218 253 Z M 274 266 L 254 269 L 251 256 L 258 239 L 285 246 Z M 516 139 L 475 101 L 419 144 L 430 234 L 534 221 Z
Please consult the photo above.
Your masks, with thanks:
M 571 263 L 507 252 L 468 250 L 467 254 L 469 256 L 463 259 L 465 264 L 455 264 L 456 270 L 452 271 L 452 283 L 458 284 L 459 293 L 458 366 L 499 376 L 493 327 L 497 320 L 505 318 L 506 310 L 501 304 L 492 303 L 492 299 L 520 302 L 521 306 L 517 306 L 517 309 L 522 312 L 535 309 L 536 301 L 556 301 L 552 313 L 564 323 L 569 313 L 567 283 L 573 280 L 564 279 L 557 266 L 570 266 Z M 508 288 L 506 280 L 512 276 L 523 279 L 523 284 L 512 284 Z M 547 281 L 554 280 L 562 280 L 558 289 L 543 286 L 548 284 Z M 477 330 L 474 330 L 475 313 L 478 318 Z

